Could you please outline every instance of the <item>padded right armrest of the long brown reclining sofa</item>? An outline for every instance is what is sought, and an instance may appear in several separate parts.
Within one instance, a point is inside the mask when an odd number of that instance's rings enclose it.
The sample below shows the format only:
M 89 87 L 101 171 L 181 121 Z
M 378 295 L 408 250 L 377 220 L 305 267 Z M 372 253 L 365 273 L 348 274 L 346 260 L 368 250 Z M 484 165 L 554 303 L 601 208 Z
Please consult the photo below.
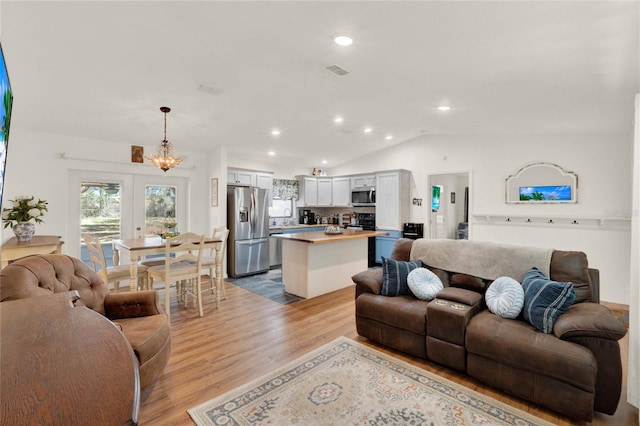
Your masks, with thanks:
M 562 340 L 597 337 L 617 341 L 627 334 L 627 329 L 603 305 L 583 302 L 572 305 L 558 317 L 553 333 Z

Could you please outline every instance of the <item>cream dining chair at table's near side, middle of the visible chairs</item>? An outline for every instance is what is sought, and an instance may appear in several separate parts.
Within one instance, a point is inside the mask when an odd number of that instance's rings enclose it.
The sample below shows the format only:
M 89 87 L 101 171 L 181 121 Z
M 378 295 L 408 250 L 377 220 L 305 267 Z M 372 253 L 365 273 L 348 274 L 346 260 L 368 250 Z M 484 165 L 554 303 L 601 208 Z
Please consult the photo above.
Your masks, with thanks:
M 149 282 L 159 280 L 164 283 L 164 304 L 167 315 L 171 315 L 171 285 L 175 283 L 176 295 L 185 305 L 188 296 L 197 299 L 200 316 L 202 311 L 202 247 L 204 235 L 185 232 L 166 239 L 165 262 L 163 265 L 147 269 Z M 195 283 L 195 288 L 194 287 Z

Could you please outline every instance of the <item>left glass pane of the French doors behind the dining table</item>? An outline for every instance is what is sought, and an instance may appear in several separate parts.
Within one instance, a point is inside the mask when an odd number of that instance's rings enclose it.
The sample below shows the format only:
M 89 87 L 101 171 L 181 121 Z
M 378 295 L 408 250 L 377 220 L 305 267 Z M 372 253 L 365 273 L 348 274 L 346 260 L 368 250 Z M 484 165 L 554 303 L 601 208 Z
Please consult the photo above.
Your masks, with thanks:
M 82 182 L 80 185 L 80 235 L 90 233 L 102 242 L 107 266 L 113 265 L 111 240 L 121 235 L 121 188 L 116 182 Z M 81 243 L 80 258 L 89 256 Z

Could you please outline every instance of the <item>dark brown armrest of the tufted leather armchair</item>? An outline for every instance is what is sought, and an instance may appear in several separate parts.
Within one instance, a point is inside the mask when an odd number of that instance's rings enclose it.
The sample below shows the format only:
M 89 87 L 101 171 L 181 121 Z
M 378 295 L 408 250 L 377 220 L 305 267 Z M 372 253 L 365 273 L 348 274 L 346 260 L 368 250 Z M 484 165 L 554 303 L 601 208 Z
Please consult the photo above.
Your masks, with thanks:
M 109 293 L 104 298 L 105 316 L 110 320 L 163 314 L 155 290 Z

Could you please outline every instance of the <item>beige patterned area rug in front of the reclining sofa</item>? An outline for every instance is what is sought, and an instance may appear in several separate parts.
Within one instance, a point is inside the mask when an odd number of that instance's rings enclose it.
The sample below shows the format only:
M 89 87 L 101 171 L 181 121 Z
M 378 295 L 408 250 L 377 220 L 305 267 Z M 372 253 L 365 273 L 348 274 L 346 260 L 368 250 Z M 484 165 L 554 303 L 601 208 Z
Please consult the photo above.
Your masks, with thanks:
M 550 425 L 345 337 L 188 410 L 197 425 Z

